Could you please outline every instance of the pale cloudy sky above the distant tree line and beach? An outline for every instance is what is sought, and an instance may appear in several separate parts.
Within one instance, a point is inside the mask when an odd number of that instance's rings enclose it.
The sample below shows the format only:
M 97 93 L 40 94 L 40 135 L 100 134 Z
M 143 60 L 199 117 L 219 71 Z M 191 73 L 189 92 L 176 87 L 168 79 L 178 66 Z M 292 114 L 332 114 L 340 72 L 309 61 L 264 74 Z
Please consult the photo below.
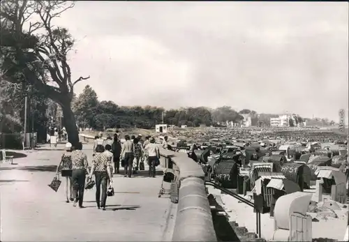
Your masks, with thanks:
M 118 105 L 248 108 L 339 120 L 348 3 L 78 1 L 74 77 Z

